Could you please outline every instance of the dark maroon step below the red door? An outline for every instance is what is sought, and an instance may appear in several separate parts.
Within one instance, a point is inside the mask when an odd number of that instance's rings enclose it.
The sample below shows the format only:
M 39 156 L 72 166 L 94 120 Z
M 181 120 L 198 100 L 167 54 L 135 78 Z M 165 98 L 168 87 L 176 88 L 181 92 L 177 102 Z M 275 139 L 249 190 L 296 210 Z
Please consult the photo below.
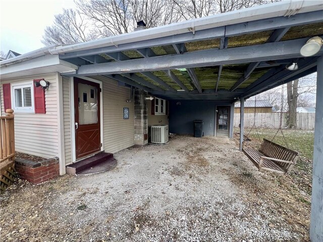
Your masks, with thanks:
M 96 164 L 99 164 L 103 161 L 106 161 L 106 160 L 112 159 L 112 158 L 113 158 L 113 154 L 111 154 L 111 153 L 105 153 L 105 152 L 98 153 L 98 154 L 93 155 L 93 156 L 86 158 L 84 160 L 67 165 L 66 166 L 66 173 L 70 174 L 70 175 L 75 175 L 83 170 L 86 170 L 90 167 L 95 166 Z

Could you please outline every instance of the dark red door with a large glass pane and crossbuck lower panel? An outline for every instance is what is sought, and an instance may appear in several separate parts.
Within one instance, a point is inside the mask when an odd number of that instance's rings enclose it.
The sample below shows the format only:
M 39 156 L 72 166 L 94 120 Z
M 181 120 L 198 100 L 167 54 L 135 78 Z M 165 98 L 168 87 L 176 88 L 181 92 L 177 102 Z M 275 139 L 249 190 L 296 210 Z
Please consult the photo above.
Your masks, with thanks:
M 100 86 L 74 78 L 76 159 L 101 150 Z

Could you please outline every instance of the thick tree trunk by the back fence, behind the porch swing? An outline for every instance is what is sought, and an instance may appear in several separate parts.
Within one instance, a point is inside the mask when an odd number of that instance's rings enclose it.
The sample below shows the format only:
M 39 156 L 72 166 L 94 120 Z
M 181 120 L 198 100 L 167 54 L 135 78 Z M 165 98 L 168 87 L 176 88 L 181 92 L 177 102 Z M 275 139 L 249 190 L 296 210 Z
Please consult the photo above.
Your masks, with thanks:
M 287 83 L 287 103 L 289 109 L 288 128 L 296 128 L 297 89 L 298 79 Z

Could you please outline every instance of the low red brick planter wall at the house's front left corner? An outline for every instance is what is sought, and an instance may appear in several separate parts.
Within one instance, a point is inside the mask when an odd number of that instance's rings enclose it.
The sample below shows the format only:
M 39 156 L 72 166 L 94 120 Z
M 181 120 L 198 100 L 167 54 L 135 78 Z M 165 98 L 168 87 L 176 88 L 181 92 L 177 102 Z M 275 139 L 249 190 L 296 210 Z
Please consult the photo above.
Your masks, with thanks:
M 17 158 L 16 171 L 22 179 L 32 184 L 39 184 L 60 175 L 59 158 L 31 161 Z

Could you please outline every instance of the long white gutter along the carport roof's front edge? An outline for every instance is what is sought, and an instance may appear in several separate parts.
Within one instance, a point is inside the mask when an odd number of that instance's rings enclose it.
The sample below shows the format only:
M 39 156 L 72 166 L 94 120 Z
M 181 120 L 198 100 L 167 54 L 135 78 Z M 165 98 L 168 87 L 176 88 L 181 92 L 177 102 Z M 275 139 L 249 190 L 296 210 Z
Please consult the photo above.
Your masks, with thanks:
M 216 28 L 260 19 L 291 16 L 298 13 L 306 13 L 317 10 L 323 10 L 323 2 L 320 0 L 288 0 L 275 4 L 262 5 L 203 18 L 191 19 L 179 23 L 159 26 L 122 35 L 115 35 L 88 42 L 71 44 L 68 46 L 55 46 L 49 48 L 49 52 L 51 54 L 64 54 L 67 52 L 113 45 L 118 47 L 119 44 L 132 43 L 188 32 L 192 32 L 192 34 L 194 34 L 195 31 L 203 29 Z

